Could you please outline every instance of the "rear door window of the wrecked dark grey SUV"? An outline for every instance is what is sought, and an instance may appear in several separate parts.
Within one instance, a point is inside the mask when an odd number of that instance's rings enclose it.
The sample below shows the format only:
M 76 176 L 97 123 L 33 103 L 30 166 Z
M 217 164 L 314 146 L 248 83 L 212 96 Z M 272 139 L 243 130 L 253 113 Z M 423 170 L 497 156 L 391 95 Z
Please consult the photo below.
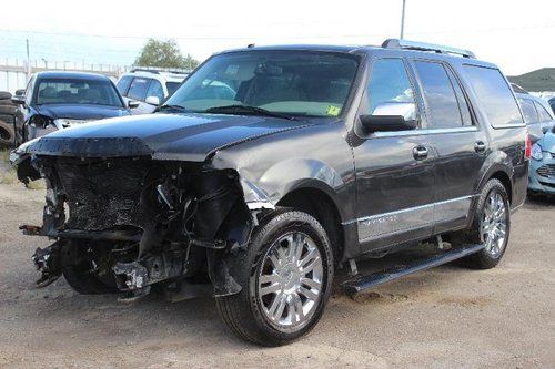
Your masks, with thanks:
M 416 61 L 415 65 L 424 90 L 428 127 L 461 127 L 463 120 L 458 101 L 445 66 L 441 63 L 424 61 Z M 467 106 L 466 113 L 468 113 Z

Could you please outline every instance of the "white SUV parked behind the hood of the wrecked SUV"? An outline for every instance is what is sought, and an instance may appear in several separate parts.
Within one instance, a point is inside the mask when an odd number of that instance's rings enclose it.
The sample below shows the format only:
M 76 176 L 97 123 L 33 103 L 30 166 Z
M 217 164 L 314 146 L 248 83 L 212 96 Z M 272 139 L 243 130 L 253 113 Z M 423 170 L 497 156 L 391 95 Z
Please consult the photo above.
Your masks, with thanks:
M 122 74 L 115 85 L 124 99 L 139 102 L 133 114 L 152 113 L 183 82 L 189 73 L 135 69 Z

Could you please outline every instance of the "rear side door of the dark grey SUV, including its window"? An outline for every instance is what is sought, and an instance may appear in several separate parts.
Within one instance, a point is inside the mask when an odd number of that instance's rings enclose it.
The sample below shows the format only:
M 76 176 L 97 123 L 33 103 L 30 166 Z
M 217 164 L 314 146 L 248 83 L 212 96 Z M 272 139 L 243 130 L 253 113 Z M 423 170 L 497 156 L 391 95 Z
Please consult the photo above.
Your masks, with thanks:
M 464 227 L 486 157 L 487 136 L 475 124 L 460 79 L 450 64 L 416 59 L 424 98 L 424 133 L 435 148 L 434 234 Z

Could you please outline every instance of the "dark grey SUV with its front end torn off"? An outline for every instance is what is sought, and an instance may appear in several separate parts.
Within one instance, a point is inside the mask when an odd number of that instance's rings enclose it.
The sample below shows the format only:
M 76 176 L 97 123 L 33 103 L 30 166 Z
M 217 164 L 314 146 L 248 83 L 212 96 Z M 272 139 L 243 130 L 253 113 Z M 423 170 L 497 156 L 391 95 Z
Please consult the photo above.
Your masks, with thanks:
M 457 258 L 497 265 L 529 150 L 495 65 L 387 40 L 219 53 L 158 113 L 49 134 L 12 162 L 49 188 L 43 225 L 22 226 L 56 240 L 34 254 L 39 286 L 208 290 L 235 334 L 275 346 L 316 325 L 336 267 L 356 294 Z M 356 273 L 431 239 L 423 260 Z

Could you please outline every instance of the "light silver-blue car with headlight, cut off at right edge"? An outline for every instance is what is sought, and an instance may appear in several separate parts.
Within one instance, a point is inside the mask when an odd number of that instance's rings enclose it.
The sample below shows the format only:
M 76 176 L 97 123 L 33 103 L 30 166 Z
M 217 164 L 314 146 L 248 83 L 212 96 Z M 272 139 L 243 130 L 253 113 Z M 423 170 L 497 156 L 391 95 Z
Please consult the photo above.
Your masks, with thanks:
M 555 126 L 532 146 L 528 194 L 555 195 Z

